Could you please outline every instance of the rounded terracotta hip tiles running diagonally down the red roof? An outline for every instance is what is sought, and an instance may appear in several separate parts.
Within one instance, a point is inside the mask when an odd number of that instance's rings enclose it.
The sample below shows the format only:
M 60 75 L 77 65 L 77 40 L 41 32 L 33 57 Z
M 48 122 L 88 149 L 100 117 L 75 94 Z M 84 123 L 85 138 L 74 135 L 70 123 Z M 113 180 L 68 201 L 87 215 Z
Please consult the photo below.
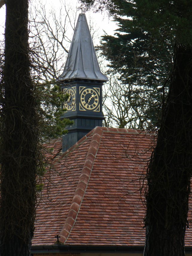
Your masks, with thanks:
M 83 143 L 83 141 L 85 141 L 87 137 L 89 137 L 89 135 L 93 134 L 93 137 L 86 155 L 85 163 L 79 178 L 79 182 L 77 184 L 77 188 L 71 202 L 71 207 L 69 208 L 69 212 L 65 220 L 65 224 L 63 225 L 63 228 L 59 235 L 60 243 L 64 244 L 67 241 L 71 233 L 71 230 L 75 224 L 75 221 L 77 219 L 77 215 L 81 207 L 83 196 L 85 194 L 85 191 L 89 182 L 89 178 L 92 172 L 92 167 L 93 167 L 95 157 L 99 149 L 101 137 L 103 134 L 103 129 L 101 128 L 102 127 L 96 127 L 94 130 L 92 130 L 86 136 L 84 136 L 85 138 L 84 139 L 82 138 L 83 140 L 81 139 L 82 140 L 81 142 L 78 141 L 78 145 L 80 145 L 81 143 Z

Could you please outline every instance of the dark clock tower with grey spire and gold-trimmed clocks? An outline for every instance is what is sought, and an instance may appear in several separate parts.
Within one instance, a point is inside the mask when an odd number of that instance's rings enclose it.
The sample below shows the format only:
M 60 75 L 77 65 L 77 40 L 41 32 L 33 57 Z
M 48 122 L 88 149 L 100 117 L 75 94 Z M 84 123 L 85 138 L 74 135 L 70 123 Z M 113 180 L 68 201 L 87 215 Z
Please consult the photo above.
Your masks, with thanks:
M 108 78 L 100 71 L 86 16 L 80 13 L 65 68 L 58 78 L 68 98 L 63 102 L 74 124 L 63 135 L 63 152 L 96 126 L 102 126 L 102 85 Z

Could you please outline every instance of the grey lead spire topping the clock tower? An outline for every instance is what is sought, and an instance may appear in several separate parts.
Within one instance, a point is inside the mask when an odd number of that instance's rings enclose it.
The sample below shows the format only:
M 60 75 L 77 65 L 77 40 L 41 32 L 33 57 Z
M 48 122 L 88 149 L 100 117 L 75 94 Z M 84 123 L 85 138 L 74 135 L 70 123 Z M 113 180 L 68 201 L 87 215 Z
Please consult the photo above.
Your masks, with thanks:
M 108 81 L 108 78 L 100 71 L 84 13 L 79 14 L 65 68 L 59 80 L 64 81 L 77 78 Z

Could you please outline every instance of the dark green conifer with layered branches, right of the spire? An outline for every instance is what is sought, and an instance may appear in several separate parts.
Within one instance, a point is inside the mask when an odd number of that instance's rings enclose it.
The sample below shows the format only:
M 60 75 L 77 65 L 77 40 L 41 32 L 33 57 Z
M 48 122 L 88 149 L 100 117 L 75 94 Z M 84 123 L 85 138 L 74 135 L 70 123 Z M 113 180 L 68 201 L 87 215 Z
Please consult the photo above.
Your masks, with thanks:
M 131 108 L 139 110 L 137 118 L 142 125 L 135 128 L 147 128 L 156 125 L 160 115 L 161 93 L 170 74 L 173 47 L 169 40 L 155 40 L 147 30 L 135 26 L 137 10 L 132 8 L 133 3 L 113 2 L 110 12 L 118 29 L 114 36 L 103 36 L 101 50 L 110 62 L 109 71 L 119 73 L 120 82 L 127 85 Z

